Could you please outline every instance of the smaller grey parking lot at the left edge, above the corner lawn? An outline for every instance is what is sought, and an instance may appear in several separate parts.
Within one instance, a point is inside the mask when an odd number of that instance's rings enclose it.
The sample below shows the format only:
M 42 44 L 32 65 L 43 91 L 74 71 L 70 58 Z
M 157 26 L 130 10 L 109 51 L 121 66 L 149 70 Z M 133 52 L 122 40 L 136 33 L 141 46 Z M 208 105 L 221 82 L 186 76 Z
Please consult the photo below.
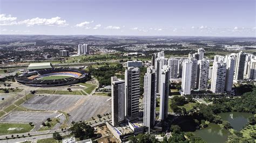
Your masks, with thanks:
M 57 112 L 30 112 L 30 111 L 12 111 L 1 118 L 5 123 L 42 123 L 47 118 L 53 118 L 59 115 Z

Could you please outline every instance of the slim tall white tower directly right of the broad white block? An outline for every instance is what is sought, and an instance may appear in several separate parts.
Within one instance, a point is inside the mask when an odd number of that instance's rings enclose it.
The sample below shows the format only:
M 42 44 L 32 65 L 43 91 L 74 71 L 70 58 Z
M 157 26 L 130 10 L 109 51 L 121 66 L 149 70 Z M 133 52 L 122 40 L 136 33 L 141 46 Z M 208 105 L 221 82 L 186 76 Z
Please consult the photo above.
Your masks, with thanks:
M 235 56 L 226 55 L 226 80 L 225 80 L 225 91 L 231 92 L 233 86 L 234 67 L 235 67 Z

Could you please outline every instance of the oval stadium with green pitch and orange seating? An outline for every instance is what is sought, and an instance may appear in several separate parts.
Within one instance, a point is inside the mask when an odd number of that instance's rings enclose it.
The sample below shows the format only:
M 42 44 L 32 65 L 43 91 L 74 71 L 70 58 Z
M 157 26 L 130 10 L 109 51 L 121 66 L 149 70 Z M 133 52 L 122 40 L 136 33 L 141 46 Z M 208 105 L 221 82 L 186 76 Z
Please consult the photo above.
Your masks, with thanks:
M 82 69 L 52 68 L 51 66 L 45 67 L 42 65 L 38 67 L 29 66 L 28 73 L 15 77 L 16 82 L 31 87 L 56 87 L 82 82 L 88 75 Z

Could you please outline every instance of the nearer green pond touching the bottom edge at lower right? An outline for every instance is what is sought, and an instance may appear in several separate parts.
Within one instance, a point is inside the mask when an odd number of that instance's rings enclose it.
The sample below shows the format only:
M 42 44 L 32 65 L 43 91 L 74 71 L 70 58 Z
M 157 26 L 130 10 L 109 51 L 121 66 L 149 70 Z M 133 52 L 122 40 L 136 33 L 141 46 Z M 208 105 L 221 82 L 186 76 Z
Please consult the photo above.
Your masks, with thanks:
M 193 132 L 196 137 L 202 138 L 207 143 L 226 142 L 228 131 L 221 128 L 218 124 L 210 123 L 208 127 Z

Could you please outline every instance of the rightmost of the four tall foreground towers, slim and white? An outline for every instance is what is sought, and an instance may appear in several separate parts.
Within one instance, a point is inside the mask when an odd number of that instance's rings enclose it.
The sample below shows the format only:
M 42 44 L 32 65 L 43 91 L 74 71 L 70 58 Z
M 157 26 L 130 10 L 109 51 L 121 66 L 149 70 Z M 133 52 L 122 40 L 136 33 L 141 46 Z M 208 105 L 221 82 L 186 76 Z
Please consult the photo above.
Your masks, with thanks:
M 169 101 L 169 84 L 170 84 L 170 69 L 168 66 L 163 66 L 161 69 L 160 80 L 160 110 L 159 119 L 164 120 L 168 115 L 168 101 Z

